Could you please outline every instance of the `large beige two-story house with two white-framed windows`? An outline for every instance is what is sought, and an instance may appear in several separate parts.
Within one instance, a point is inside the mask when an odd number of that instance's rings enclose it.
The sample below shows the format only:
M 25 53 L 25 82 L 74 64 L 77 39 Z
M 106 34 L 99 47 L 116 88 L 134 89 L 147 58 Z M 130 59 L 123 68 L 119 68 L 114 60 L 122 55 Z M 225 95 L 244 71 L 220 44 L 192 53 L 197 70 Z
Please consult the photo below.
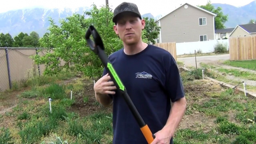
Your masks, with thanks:
M 156 43 L 215 39 L 215 14 L 192 4 L 181 4 L 155 22 L 161 27 Z

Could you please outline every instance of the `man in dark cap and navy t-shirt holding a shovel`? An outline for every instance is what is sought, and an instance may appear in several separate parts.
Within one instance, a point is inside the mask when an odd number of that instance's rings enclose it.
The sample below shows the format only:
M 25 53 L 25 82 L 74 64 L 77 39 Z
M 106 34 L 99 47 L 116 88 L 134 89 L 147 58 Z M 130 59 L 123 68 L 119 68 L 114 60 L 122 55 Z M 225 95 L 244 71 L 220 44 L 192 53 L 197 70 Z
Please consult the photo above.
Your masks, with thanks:
M 112 53 L 109 60 L 155 135 L 152 144 L 172 144 L 187 104 L 177 63 L 163 48 L 143 43 L 141 34 L 145 20 L 141 19 L 135 4 L 124 2 L 117 6 L 113 22 L 124 48 Z M 103 106 L 113 102 L 113 144 L 147 144 L 106 69 L 95 83 L 94 91 L 96 100 Z

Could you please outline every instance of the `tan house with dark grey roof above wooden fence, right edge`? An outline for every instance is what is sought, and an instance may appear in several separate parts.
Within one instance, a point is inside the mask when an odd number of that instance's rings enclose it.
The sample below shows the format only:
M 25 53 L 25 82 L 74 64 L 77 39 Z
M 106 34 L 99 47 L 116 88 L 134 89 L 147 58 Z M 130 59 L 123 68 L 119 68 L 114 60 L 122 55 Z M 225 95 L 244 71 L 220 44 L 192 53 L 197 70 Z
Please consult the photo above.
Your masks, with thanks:
M 237 25 L 230 37 L 256 36 L 256 24 Z

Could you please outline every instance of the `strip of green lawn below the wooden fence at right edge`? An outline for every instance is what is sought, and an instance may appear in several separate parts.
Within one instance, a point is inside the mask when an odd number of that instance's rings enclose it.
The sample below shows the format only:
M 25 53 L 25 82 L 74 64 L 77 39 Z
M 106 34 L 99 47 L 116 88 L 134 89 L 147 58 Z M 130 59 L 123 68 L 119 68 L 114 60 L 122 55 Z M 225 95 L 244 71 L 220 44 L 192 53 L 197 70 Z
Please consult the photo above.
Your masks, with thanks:
M 241 61 L 227 60 L 223 64 L 256 71 L 256 60 L 241 60 Z

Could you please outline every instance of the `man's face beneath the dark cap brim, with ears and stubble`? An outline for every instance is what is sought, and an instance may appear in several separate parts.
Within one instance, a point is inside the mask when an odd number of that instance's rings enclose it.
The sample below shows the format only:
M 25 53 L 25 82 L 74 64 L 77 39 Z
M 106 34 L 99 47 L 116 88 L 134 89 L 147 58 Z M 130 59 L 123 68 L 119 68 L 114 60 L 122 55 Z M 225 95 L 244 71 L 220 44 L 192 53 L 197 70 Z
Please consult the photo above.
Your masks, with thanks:
M 133 45 L 140 41 L 144 26 L 144 19 L 141 20 L 137 16 L 124 13 L 119 16 L 116 25 L 114 25 L 114 30 L 125 44 Z

